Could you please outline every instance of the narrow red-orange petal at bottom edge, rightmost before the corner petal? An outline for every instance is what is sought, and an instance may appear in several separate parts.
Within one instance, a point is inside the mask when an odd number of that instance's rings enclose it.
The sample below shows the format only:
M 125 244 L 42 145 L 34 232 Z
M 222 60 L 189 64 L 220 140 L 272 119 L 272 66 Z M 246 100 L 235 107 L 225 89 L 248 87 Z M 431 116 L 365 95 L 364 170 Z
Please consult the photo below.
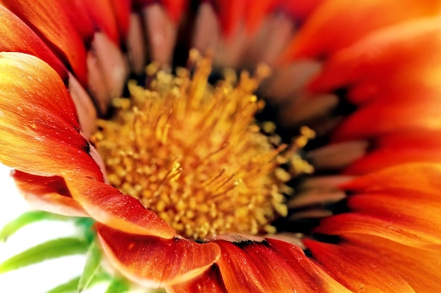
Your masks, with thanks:
M 402 276 L 383 261 L 354 245 L 304 240 L 312 257 L 335 280 L 352 292 L 415 293 Z

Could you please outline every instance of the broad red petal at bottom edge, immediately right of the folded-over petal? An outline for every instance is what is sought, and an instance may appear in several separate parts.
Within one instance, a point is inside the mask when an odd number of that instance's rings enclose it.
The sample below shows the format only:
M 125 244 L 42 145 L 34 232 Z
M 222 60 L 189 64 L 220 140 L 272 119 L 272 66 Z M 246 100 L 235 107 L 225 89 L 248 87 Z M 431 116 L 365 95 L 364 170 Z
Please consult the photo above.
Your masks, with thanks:
M 228 292 L 349 292 L 311 263 L 302 249 L 286 242 L 216 243 L 222 249 L 218 266 Z

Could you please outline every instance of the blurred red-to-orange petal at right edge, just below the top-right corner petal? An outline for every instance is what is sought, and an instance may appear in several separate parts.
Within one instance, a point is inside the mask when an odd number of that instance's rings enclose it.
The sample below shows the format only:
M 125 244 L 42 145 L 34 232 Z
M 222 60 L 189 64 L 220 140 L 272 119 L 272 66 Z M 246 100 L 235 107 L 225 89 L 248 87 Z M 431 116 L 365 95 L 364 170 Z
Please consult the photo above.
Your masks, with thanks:
M 373 98 L 413 99 L 430 92 L 439 96 L 440 36 L 438 18 L 408 21 L 380 30 L 331 56 L 310 88 L 329 92 L 350 86 L 348 99 L 356 104 Z M 406 95 L 409 91 L 413 95 Z

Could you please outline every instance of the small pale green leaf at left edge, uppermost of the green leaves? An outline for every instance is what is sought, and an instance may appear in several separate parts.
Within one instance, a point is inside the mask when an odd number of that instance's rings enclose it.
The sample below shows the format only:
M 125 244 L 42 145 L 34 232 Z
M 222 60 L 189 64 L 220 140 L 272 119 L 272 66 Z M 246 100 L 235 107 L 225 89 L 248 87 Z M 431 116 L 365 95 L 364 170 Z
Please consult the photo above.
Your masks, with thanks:
M 17 232 L 17 230 L 29 225 L 30 223 L 42 220 L 66 221 L 68 219 L 70 219 L 70 217 L 52 214 L 47 211 L 27 211 L 18 216 L 18 218 L 7 223 L 4 228 L 0 230 L 0 241 L 6 241 L 9 236 L 13 235 L 13 233 Z

